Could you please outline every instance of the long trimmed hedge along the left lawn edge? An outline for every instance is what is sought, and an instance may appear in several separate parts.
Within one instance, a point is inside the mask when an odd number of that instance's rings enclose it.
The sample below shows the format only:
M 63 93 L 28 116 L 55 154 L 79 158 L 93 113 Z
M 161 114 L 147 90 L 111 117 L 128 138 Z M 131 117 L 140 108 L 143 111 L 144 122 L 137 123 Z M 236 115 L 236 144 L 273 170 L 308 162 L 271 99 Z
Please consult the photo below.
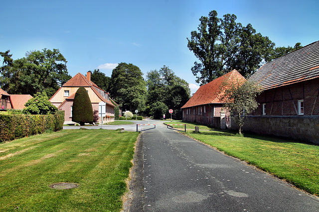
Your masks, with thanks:
M 63 129 L 64 111 L 53 115 L 0 114 L 0 142 Z

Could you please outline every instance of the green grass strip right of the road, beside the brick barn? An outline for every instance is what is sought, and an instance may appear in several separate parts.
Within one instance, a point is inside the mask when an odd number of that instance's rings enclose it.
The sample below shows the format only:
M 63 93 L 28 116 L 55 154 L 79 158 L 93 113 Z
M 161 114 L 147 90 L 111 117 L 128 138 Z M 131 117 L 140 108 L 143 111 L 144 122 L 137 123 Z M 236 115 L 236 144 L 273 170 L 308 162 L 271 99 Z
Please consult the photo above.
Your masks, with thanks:
M 319 145 L 231 132 L 186 134 L 319 196 Z

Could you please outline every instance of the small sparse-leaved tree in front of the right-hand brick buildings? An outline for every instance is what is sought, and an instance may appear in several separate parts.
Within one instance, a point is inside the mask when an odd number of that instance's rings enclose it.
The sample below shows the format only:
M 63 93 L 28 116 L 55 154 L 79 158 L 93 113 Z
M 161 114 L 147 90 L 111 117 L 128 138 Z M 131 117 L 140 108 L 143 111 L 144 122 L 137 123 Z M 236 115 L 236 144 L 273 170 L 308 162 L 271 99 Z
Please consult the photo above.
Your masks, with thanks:
M 233 81 L 224 84 L 222 92 L 224 94 L 221 100 L 226 102 L 225 107 L 234 118 L 239 127 L 238 133 L 241 135 L 247 114 L 258 107 L 256 96 L 261 92 L 261 88 L 253 81 Z

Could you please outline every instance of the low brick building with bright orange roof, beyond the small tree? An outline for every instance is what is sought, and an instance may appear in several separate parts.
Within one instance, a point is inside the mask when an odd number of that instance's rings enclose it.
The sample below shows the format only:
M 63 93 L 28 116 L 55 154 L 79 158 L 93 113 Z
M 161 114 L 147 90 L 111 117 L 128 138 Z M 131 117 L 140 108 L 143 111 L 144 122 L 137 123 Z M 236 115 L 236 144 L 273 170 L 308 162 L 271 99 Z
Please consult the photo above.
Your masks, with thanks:
M 214 79 L 198 88 L 194 95 L 181 107 L 183 111 L 183 121 L 197 122 L 210 125 L 216 128 L 224 128 L 221 121 L 221 112 L 226 114 L 228 120 L 226 125 L 230 125 L 229 113 L 223 110 L 220 100 L 223 86 L 231 81 L 245 81 L 246 79 L 236 70 Z M 224 117 L 222 117 L 224 118 Z

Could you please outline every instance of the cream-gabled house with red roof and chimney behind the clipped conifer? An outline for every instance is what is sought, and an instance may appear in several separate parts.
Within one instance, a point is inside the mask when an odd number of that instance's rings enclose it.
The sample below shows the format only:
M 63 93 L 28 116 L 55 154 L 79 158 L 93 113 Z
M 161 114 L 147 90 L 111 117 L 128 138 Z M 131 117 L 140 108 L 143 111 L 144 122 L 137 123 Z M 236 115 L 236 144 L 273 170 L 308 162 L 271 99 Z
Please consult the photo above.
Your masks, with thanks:
M 63 84 L 59 90 L 49 99 L 49 101 L 59 110 L 65 111 L 65 123 L 72 122 L 72 105 L 74 95 L 79 87 L 84 87 L 87 90 L 92 103 L 93 111 L 99 110 L 100 102 L 106 103 L 106 116 L 103 117 L 103 122 L 113 122 L 115 105 L 111 102 L 109 93 L 105 92 L 94 82 L 92 82 L 91 72 L 87 72 L 86 76 L 81 73 L 77 73 L 69 81 Z M 99 121 L 102 121 L 101 117 L 99 117 Z

